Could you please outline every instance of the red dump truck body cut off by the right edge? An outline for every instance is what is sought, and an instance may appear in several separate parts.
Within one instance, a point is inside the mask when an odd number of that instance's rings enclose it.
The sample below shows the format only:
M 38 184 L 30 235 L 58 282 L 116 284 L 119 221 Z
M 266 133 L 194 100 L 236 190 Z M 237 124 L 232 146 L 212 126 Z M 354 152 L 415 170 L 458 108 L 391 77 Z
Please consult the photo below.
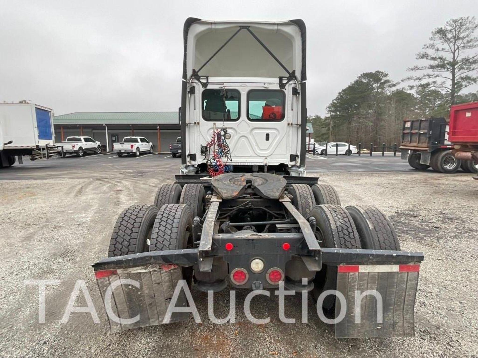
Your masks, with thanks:
M 452 153 L 457 160 L 478 166 L 478 102 L 451 106 L 448 140 L 454 145 Z M 478 180 L 478 176 L 473 179 Z

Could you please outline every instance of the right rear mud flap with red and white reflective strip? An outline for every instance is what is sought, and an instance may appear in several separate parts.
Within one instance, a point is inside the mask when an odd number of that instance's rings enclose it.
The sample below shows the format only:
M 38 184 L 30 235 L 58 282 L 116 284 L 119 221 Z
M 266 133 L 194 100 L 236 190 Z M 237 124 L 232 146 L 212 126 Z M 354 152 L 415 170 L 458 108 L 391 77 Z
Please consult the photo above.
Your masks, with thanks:
M 342 266 L 352 268 L 342 271 L 356 272 L 341 272 L 339 266 L 337 291 L 346 307 L 337 295 L 336 317 L 341 309 L 345 316 L 336 318 L 336 338 L 413 337 L 419 265 L 377 265 L 378 270 L 394 271 L 367 272 L 373 271 L 372 266 L 363 271 L 359 266 Z

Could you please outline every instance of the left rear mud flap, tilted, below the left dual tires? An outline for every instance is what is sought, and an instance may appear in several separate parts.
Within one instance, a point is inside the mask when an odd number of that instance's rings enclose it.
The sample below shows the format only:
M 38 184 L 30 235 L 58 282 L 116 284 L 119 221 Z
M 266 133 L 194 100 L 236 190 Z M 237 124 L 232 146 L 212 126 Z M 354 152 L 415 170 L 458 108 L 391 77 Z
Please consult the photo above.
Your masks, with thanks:
M 169 321 L 165 321 L 182 273 L 176 265 L 163 266 L 166 269 L 148 268 L 97 278 L 112 332 L 184 321 L 190 316 L 188 312 L 174 312 Z M 185 292 L 181 290 L 174 306 L 186 307 L 186 304 Z

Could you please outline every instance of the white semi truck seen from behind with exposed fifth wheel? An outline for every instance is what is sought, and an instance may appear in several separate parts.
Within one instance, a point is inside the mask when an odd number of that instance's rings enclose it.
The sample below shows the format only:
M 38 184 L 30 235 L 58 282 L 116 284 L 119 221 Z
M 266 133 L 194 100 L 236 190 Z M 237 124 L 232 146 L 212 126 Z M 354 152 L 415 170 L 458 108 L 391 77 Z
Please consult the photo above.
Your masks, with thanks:
M 379 209 L 304 176 L 304 21 L 189 18 L 183 33 L 182 175 L 126 208 L 93 264 L 111 329 L 187 319 L 194 277 L 310 293 L 336 337 L 413 336 L 423 253 L 401 251 Z

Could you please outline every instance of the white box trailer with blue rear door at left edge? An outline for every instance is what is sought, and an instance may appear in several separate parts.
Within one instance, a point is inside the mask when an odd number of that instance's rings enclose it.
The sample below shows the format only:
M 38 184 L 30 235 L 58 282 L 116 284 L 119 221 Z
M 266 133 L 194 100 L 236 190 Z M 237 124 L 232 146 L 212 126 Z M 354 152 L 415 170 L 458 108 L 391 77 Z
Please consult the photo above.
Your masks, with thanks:
M 53 110 L 33 103 L 0 104 L 0 168 L 18 157 L 49 158 L 54 146 Z

